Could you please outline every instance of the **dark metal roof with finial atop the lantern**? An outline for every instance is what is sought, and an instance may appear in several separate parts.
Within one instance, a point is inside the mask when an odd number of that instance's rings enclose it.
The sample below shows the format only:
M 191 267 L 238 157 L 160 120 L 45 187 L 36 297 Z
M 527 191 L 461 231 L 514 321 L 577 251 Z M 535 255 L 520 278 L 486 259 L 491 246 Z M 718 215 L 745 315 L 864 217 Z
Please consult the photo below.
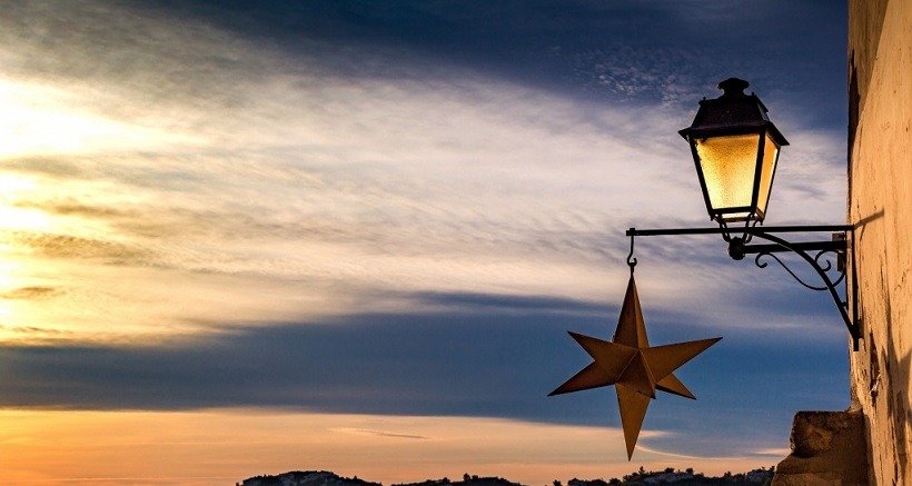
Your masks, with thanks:
M 678 133 L 684 139 L 690 139 L 756 133 L 765 129 L 780 147 L 789 145 L 782 132 L 770 121 L 766 115 L 769 110 L 763 101 L 753 92 L 744 93 L 749 86 L 747 81 L 738 78 L 728 78 L 720 82 L 722 96 L 714 99 L 703 98 L 694 122 Z

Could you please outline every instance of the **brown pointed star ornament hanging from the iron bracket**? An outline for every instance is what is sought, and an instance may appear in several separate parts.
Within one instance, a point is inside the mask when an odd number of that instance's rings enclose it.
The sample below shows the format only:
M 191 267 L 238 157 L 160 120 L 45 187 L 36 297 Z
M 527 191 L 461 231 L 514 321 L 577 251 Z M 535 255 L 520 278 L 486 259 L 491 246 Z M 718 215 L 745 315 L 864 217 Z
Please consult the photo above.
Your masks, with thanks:
M 650 400 L 655 398 L 655 390 L 696 399 L 673 371 L 722 339 L 717 337 L 650 347 L 633 272 L 627 282 L 617 329 L 611 341 L 576 333 L 569 335 L 594 361 L 548 396 L 616 385 L 614 389 L 621 408 L 627 460 L 633 457 L 643 418 Z

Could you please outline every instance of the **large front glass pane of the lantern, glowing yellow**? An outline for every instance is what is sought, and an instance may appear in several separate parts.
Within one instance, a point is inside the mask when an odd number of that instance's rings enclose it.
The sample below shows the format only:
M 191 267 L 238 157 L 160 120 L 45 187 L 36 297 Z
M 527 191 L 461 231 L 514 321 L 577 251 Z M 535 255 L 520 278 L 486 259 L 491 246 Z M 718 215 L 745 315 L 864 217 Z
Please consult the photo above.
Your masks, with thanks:
M 751 206 L 759 139 L 759 133 L 694 139 L 713 211 Z M 770 173 L 772 177 L 772 170 Z M 726 214 L 724 219 L 744 219 L 747 215 Z

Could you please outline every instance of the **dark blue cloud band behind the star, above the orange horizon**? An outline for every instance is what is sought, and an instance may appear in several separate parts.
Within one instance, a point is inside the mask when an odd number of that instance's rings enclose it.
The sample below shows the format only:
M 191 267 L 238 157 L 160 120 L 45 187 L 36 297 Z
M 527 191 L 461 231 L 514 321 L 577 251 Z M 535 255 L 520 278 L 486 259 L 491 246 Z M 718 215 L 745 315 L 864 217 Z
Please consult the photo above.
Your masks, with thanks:
M 565 330 L 608 338 L 614 313 L 539 310 L 548 305 L 533 300 L 514 306 L 525 311 L 502 311 L 495 304 L 462 314 L 349 316 L 236 328 L 161 345 L 7 345 L 0 348 L 0 363 L 8 370 L 0 377 L 4 390 L 0 405 L 140 410 L 266 407 L 587 426 L 615 420 L 611 390 L 545 397 L 588 359 Z M 656 344 L 708 337 L 705 330 L 684 325 L 650 330 Z M 777 433 L 787 435 L 794 407 L 841 405 L 826 390 L 841 387 L 844 369 L 820 366 L 839 361 L 843 351 L 835 343 L 809 343 L 787 330 L 766 328 L 725 337 L 717 351 L 681 370 L 682 380 L 700 398 L 698 407 L 674 397 L 663 397 L 651 407 L 647 428 L 681 433 L 656 436 L 653 447 L 680 450 L 690 443 L 700 444 L 703 454 L 723 454 L 725 447 L 743 443 L 745 435 L 756 438 L 750 442 L 754 447 L 772 447 Z M 745 414 L 752 419 L 745 421 Z M 715 425 L 706 428 L 707 420 Z M 727 435 L 708 429 L 727 430 Z

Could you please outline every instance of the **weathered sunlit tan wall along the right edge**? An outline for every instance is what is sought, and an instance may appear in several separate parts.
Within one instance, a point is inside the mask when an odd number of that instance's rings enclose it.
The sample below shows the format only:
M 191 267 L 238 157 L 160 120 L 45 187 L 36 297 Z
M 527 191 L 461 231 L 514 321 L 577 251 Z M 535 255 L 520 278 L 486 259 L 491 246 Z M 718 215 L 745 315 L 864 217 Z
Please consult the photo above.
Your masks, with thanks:
M 872 484 L 912 485 L 912 0 L 849 1 L 849 218 L 863 340 L 851 354 Z

